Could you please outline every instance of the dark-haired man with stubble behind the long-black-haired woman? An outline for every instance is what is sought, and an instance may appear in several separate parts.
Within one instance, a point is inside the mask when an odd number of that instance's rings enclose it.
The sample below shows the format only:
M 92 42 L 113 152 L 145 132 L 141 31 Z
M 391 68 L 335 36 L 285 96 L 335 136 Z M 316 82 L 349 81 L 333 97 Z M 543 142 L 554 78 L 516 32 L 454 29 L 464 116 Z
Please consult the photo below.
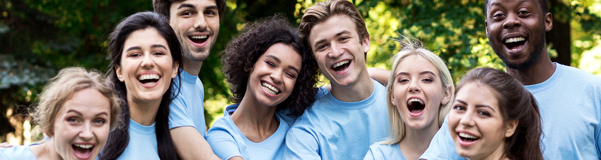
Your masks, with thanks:
M 204 89 L 198 73 L 217 39 L 225 0 L 153 0 L 153 7 L 168 17 L 185 58 L 181 90 L 169 113 L 175 149 L 182 159 L 219 159 L 204 139 Z

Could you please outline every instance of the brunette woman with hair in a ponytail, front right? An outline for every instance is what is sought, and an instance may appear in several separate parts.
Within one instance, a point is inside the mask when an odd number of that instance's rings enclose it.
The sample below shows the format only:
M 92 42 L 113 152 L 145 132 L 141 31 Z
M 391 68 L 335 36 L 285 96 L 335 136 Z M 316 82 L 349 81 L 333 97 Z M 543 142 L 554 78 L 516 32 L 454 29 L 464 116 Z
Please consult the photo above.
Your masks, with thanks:
M 534 96 L 509 74 L 476 68 L 457 84 L 448 126 L 459 156 L 543 159 Z

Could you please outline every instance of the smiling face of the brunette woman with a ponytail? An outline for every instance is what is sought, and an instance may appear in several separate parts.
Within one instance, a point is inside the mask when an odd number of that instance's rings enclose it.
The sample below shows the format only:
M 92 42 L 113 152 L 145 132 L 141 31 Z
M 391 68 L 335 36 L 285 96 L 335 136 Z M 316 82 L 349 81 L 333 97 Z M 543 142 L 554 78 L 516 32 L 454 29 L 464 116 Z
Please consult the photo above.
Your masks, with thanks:
M 448 125 L 457 154 L 469 159 L 501 158 L 505 138 L 513 135 L 516 122 L 505 125 L 495 92 L 468 82 L 455 96 Z

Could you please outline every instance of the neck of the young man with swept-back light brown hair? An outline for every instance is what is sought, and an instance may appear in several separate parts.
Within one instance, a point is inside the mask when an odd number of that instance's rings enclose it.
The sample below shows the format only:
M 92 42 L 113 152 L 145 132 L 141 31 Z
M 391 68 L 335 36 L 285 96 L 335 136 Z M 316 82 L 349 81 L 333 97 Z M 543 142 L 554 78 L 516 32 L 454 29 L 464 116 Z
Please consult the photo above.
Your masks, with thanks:
M 367 73 L 367 72 L 365 72 Z M 358 79 L 350 86 L 340 86 L 332 83 L 332 96 L 343 102 L 363 101 L 374 92 L 374 82 L 367 74 L 359 74 Z

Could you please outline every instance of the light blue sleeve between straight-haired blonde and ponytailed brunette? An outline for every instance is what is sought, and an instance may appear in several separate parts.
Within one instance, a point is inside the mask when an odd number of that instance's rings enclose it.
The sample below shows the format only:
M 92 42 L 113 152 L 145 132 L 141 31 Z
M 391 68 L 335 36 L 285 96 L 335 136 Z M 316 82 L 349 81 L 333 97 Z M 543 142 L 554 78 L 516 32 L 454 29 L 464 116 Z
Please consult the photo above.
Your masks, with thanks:
M 442 123 L 441 129 L 438 129 L 434 138 L 430 142 L 430 146 L 424 152 L 423 155 L 419 156 L 419 159 L 428 160 L 448 160 L 448 159 L 465 159 L 457 155 L 455 149 L 455 142 L 451 138 L 448 125 L 449 116 L 445 117 L 445 122 Z

